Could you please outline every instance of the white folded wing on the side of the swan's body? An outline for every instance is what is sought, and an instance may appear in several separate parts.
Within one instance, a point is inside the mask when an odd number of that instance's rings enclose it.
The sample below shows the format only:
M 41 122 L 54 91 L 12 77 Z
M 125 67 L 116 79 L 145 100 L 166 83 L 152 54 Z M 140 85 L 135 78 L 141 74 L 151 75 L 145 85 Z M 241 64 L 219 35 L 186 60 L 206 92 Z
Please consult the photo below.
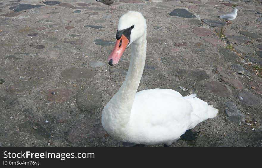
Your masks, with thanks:
M 178 139 L 191 125 L 193 108 L 180 93 L 171 89 L 150 89 L 136 94 L 129 129 L 136 140 L 170 142 Z M 148 142 L 146 141 L 148 140 Z

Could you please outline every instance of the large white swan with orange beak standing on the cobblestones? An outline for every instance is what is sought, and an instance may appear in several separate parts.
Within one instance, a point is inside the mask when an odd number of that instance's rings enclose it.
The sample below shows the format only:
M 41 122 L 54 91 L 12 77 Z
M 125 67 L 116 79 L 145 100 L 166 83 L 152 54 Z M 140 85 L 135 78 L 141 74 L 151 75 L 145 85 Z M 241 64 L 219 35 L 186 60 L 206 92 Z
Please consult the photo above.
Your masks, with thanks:
M 121 16 L 116 39 L 108 63 L 117 64 L 129 45 L 131 59 L 124 83 L 102 112 L 108 134 L 123 142 L 171 145 L 186 130 L 216 116 L 218 110 L 196 94 L 183 97 L 171 89 L 137 92 L 146 59 L 146 20 L 140 12 Z

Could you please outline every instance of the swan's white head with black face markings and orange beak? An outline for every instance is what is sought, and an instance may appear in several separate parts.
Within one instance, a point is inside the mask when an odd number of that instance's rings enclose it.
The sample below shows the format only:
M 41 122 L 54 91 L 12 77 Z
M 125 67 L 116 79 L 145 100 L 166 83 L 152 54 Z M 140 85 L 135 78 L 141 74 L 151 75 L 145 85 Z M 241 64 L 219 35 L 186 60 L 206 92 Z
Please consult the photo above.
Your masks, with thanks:
M 126 47 L 146 34 L 146 20 L 140 12 L 130 11 L 119 19 L 116 45 L 108 57 L 108 64 L 115 65 Z

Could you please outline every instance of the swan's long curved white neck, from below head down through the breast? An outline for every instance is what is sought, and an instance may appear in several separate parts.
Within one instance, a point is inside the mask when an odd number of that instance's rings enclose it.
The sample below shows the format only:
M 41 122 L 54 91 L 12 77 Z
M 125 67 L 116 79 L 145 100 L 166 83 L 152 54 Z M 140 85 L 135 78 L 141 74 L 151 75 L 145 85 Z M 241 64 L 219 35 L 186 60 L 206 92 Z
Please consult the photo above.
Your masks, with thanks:
M 103 110 L 102 124 L 104 128 L 107 127 L 105 128 L 107 132 L 115 135 L 124 133 L 143 74 L 145 60 L 146 33 L 131 44 L 131 58 L 125 81 Z M 117 130 L 111 130 L 112 128 L 117 128 Z

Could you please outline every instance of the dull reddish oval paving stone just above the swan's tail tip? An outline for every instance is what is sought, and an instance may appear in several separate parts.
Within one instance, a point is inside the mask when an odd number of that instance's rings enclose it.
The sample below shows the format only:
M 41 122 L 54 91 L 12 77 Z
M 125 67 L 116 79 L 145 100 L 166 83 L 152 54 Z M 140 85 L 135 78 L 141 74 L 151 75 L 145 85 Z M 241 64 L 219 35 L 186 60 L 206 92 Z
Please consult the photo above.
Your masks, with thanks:
M 216 93 L 218 96 L 226 97 L 229 95 L 229 90 L 218 81 L 205 83 L 204 88 L 208 91 Z

